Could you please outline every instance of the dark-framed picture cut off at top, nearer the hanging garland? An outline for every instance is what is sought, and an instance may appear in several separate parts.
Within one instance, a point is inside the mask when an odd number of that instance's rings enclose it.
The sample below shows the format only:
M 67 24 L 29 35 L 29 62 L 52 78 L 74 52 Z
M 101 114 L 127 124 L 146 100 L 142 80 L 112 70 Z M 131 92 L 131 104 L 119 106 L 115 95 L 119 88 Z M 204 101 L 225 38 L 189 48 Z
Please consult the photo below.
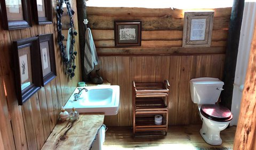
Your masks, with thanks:
M 37 24 L 52 23 L 52 1 L 51 0 L 34 0 L 33 10 L 35 22 Z

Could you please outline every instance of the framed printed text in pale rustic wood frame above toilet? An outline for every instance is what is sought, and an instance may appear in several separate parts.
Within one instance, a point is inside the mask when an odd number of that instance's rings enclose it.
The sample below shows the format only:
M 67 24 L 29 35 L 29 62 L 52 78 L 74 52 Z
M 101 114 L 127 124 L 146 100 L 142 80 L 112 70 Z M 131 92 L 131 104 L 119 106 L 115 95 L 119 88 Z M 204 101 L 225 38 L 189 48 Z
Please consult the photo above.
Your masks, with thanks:
M 214 12 L 185 12 L 182 47 L 210 47 Z

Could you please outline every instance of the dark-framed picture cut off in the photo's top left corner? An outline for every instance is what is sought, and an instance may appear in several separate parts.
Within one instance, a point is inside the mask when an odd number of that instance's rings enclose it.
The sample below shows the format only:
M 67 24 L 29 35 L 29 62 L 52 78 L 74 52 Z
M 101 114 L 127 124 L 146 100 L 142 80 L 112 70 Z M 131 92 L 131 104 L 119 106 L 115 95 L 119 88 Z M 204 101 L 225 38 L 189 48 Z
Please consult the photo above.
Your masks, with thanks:
M 1 20 L 5 30 L 32 27 L 29 0 L 3 0 L 1 5 Z

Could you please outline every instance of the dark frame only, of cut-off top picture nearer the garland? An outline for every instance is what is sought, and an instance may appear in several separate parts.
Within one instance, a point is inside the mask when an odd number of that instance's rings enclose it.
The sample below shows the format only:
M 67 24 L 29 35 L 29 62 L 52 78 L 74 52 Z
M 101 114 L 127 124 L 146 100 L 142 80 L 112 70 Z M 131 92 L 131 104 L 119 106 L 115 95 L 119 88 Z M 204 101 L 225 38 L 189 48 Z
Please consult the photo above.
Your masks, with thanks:
M 52 1 L 51 0 L 42 0 L 42 1 L 44 1 L 45 17 L 38 17 L 37 3 L 35 0 L 33 0 L 35 22 L 36 24 L 52 24 Z

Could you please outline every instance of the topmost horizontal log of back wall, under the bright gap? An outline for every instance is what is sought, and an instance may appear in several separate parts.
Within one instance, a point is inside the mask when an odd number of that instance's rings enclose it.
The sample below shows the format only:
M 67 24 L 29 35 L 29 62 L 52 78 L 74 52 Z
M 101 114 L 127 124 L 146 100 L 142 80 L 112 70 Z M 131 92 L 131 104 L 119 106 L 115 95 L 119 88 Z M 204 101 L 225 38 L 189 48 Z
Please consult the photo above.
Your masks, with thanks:
M 189 11 L 214 11 L 214 17 L 229 16 L 231 7 L 220 9 L 194 9 Z M 184 10 L 180 9 L 146 9 L 130 7 L 87 7 L 87 15 L 103 16 L 133 16 L 133 17 L 161 17 L 171 15 L 173 18 L 183 18 Z

